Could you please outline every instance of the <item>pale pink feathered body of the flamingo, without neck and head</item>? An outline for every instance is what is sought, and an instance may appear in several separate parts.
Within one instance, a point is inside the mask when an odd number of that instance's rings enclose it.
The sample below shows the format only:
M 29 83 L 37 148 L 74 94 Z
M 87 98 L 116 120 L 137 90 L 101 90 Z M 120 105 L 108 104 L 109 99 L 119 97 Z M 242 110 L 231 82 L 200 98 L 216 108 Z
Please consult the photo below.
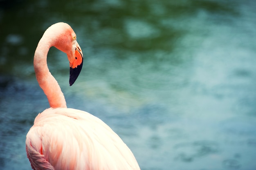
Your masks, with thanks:
M 39 113 L 26 146 L 32 168 L 38 170 L 138 168 L 130 149 L 107 124 L 77 109 L 49 108 Z

